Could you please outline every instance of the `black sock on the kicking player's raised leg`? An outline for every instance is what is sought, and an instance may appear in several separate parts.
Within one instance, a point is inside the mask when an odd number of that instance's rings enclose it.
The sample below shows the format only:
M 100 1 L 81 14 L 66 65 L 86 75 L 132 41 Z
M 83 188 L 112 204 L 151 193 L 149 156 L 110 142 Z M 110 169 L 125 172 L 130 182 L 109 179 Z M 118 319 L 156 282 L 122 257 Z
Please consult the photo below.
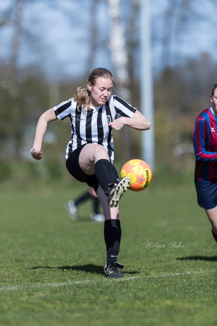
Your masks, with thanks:
M 110 162 L 106 159 L 101 159 L 94 164 L 94 174 L 102 187 L 102 190 L 105 191 L 108 188 L 108 185 L 114 185 L 114 178 Z

